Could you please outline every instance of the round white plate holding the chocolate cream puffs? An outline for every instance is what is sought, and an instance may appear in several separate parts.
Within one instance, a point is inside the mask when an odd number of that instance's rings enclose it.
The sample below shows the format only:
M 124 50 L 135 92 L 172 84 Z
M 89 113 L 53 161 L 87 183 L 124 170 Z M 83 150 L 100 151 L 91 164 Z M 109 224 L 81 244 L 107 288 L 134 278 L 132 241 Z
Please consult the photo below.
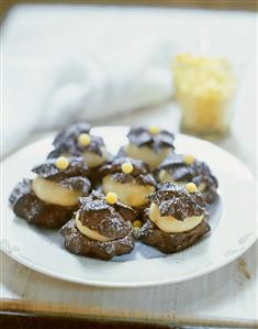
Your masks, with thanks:
M 92 130 L 115 153 L 126 139 L 126 127 Z M 12 259 L 41 273 L 87 285 L 137 287 L 187 281 L 210 273 L 244 253 L 256 240 L 255 179 L 236 157 L 194 138 L 177 135 L 177 152 L 192 153 L 211 166 L 220 183 L 220 199 L 211 208 L 210 235 L 172 255 L 137 244 L 135 251 L 111 262 L 70 254 L 57 231 L 41 230 L 15 218 L 8 204 L 13 186 L 32 177 L 30 168 L 52 149 L 49 138 L 16 152 L 1 164 L 3 173 L 1 249 Z

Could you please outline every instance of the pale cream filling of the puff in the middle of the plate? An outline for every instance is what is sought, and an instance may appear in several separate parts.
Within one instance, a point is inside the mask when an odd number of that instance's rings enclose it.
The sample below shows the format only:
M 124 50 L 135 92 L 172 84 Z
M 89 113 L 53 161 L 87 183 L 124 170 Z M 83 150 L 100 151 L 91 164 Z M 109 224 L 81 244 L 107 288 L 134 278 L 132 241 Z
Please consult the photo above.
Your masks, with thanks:
M 152 185 L 139 185 L 137 183 L 119 183 L 113 180 L 110 176 L 103 178 L 103 191 L 108 194 L 113 191 L 119 199 L 131 207 L 141 207 L 148 202 L 147 196 L 155 191 Z

